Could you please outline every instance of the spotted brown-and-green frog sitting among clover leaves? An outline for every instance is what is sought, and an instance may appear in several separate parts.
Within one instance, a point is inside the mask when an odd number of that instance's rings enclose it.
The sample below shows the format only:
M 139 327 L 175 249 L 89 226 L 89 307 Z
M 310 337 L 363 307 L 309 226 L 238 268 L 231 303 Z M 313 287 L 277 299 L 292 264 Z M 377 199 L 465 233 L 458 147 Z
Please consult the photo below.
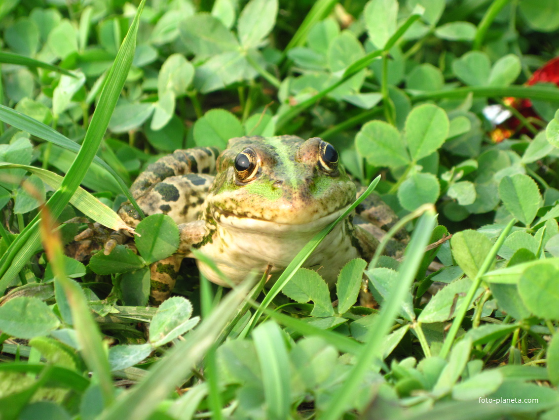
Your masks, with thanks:
M 335 147 L 319 137 L 246 136 L 231 138 L 222 152 L 195 147 L 159 158 L 130 192 L 146 215 L 167 214 L 178 226 L 176 253 L 150 267 L 150 302 L 159 304 L 173 290 L 182 260 L 195 257 L 193 250 L 225 274 L 228 281 L 204 261 L 196 262 L 220 286 L 264 272 L 273 284 L 307 242 L 351 206 L 357 186 Z M 332 288 L 349 260 L 370 261 L 385 234 L 380 227 L 397 220 L 386 205 L 383 209 L 361 209 L 372 223 L 350 213 L 302 267 L 318 272 Z M 118 213 L 132 228 L 140 221 L 129 202 Z M 111 241 L 109 248 L 116 244 Z

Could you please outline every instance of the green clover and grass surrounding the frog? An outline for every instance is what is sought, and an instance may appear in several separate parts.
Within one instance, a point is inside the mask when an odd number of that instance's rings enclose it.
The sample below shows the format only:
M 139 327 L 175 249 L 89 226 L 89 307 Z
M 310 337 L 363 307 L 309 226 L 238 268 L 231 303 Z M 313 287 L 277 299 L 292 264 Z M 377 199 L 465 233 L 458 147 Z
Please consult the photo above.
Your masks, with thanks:
M 557 418 L 558 30 L 556 0 L 1 2 L 2 420 Z M 168 218 L 63 255 L 158 156 L 257 134 L 381 174 L 404 259 L 349 262 L 335 306 L 311 245 L 265 296 L 185 267 L 154 309 Z

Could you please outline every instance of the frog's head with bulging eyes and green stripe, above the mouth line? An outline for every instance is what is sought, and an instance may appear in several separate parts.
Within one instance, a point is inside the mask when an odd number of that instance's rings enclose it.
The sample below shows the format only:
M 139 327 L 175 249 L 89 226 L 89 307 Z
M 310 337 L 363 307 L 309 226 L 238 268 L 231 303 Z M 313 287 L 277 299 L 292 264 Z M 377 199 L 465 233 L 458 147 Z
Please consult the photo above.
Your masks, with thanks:
M 207 210 L 280 225 L 334 220 L 356 187 L 338 152 L 318 137 L 237 137 L 217 160 Z

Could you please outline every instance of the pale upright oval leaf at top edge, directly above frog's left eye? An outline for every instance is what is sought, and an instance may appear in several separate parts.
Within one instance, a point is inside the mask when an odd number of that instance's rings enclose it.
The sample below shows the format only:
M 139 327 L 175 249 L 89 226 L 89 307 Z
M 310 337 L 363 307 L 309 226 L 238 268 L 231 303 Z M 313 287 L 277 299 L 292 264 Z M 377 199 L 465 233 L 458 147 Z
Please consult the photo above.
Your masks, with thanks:
M 250 0 L 237 23 L 239 41 L 243 48 L 259 46 L 276 24 L 277 0 Z

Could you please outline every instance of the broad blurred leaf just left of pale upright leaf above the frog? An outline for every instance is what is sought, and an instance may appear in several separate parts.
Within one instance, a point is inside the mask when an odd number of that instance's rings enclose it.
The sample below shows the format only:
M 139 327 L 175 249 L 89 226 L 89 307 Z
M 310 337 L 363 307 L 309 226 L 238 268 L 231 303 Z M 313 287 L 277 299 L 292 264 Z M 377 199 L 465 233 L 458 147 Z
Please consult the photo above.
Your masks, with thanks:
M 188 45 L 198 58 L 213 57 L 239 49 L 235 36 L 219 19 L 207 13 L 188 16 L 179 30 L 183 43 Z

